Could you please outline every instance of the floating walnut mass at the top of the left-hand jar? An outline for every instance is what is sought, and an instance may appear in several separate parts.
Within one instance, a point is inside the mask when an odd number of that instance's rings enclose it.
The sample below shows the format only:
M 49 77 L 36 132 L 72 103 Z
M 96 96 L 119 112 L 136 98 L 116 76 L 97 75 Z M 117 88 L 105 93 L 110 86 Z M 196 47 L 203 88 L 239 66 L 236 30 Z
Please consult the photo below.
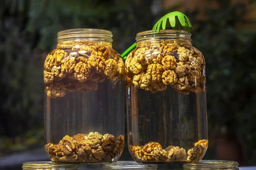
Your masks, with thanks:
M 95 91 L 99 82 L 116 81 L 123 74 L 124 62 L 109 46 L 62 42 L 44 62 L 45 92 L 56 98 L 66 91 Z

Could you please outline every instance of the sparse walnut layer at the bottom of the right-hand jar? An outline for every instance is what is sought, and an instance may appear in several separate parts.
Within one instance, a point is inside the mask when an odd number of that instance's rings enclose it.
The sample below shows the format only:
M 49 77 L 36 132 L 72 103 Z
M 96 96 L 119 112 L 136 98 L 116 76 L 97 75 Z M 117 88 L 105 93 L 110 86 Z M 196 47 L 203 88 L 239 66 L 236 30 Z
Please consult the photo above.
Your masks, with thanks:
M 144 146 L 129 145 L 129 150 L 137 161 L 171 162 L 171 161 L 200 161 L 208 147 L 208 140 L 200 140 L 195 147 L 188 151 L 178 146 L 168 146 L 163 149 L 157 142 L 149 142 Z

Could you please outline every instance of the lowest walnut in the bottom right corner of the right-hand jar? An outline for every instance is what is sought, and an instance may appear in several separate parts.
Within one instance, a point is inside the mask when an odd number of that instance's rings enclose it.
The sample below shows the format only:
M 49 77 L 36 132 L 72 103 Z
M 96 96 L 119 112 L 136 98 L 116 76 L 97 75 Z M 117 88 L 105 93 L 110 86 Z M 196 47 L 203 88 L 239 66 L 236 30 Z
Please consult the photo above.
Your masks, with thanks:
M 188 151 L 188 160 L 193 162 L 200 161 L 204 156 L 204 147 L 201 144 L 196 145 Z

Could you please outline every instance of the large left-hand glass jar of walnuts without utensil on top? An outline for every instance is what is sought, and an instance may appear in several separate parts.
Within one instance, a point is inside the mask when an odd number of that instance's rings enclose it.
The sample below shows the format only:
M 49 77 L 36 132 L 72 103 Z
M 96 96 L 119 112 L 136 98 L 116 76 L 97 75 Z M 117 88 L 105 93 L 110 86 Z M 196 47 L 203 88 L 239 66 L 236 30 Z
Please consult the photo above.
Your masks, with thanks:
M 124 147 L 124 63 L 110 31 L 58 33 L 44 62 L 45 148 L 53 162 L 117 161 Z

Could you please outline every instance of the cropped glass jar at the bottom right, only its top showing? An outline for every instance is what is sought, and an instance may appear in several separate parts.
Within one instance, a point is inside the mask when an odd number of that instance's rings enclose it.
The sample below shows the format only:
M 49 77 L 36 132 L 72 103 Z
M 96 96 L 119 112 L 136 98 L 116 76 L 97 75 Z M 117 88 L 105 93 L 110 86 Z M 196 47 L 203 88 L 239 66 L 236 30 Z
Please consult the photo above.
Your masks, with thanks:
M 238 165 L 236 161 L 202 160 L 183 164 L 183 170 L 239 170 Z

